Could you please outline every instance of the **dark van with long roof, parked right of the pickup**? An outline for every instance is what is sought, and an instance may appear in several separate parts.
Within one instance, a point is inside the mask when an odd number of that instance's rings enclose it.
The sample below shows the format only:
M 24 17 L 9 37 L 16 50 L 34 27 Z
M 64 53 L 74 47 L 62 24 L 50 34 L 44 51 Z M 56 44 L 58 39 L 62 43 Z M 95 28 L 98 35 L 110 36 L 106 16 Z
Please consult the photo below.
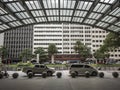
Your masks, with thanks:
M 92 76 L 97 76 L 98 74 L 98 71 L 95 68 L 87 64 L 72 64 L 69 73 L 71 74 L 72 72 L 75 72 L 76 75 L 85 75 L 86 71 Z

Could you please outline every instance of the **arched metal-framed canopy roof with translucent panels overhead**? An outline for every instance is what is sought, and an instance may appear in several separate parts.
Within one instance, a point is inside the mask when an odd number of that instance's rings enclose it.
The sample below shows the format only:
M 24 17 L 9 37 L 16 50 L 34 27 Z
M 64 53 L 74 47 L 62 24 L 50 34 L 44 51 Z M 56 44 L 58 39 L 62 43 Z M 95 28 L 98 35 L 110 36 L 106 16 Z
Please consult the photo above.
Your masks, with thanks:
M 76 23 L 120 34 L 120 0 L 0 0 L 0 33 L 41 23 Z

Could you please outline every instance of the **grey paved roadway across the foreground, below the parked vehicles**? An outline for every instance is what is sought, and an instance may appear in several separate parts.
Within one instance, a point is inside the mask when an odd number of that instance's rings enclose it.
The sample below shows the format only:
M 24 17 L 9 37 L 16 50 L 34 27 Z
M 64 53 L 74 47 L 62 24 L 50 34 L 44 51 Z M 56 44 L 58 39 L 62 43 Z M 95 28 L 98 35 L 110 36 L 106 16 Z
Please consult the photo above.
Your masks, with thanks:
M 62 78 L 56 76 L 42 78 L 40 75 L 28 79 L 19 72 L 18 79 L 0 79 L 0 90 L 120 90 L 120 77 L 113 78 L 111 72 L 105 72 L 104 78 L 71 78 L 68 71 L 61 71 Z M 12 73 L 12 72 L 9 72 Z

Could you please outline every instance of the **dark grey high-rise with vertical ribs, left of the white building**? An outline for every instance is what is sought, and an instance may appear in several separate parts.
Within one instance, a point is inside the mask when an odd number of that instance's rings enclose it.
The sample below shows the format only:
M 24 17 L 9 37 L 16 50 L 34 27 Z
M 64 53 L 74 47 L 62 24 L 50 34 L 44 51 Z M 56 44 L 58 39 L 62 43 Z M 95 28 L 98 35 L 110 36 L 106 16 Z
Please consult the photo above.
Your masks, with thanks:
M 4 33 L 4 46 L 8 50 L 7 58 L 19 58 L 25 49 L 32 50 L 33 26 L 20 27 Z

